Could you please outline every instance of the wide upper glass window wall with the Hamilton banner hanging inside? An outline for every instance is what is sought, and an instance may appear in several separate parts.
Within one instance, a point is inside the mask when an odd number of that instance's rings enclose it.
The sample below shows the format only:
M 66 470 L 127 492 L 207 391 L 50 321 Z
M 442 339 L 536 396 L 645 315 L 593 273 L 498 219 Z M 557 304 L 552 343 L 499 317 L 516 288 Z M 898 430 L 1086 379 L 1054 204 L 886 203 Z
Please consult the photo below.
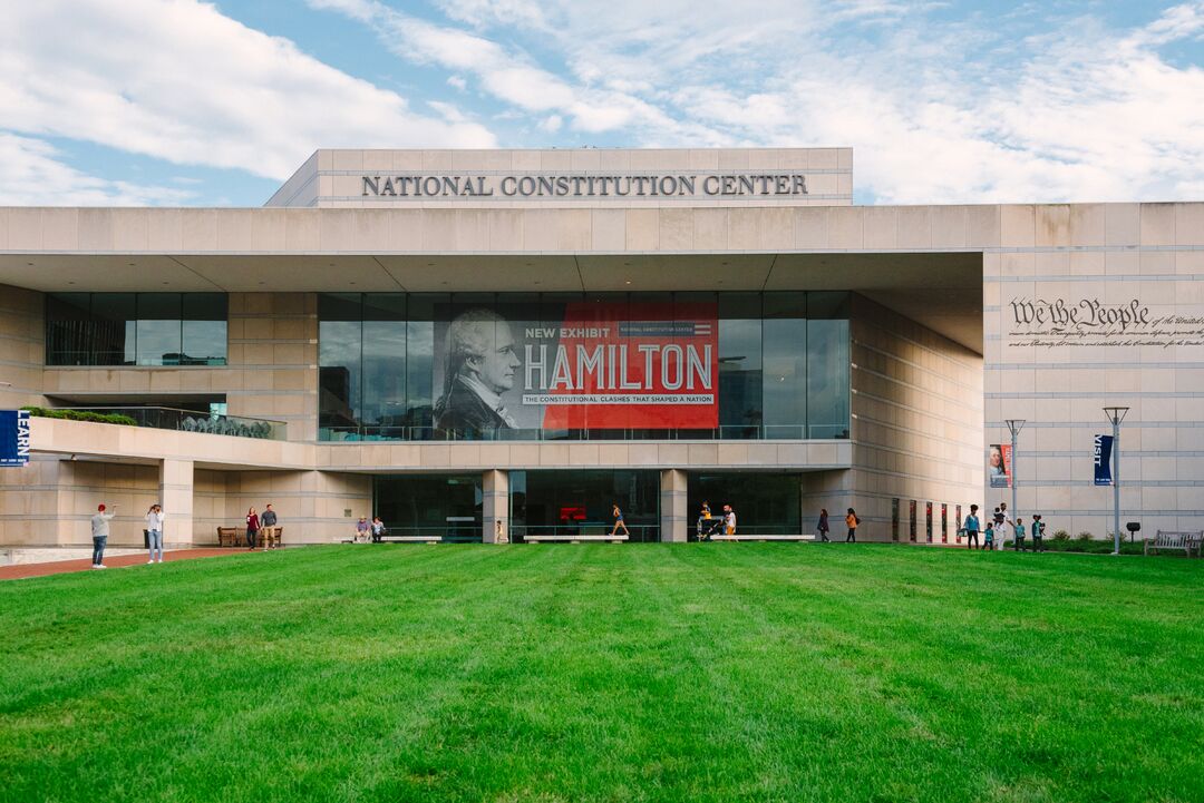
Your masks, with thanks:
M 849 293 L 321 293 L 324 440 L 849 436 Z

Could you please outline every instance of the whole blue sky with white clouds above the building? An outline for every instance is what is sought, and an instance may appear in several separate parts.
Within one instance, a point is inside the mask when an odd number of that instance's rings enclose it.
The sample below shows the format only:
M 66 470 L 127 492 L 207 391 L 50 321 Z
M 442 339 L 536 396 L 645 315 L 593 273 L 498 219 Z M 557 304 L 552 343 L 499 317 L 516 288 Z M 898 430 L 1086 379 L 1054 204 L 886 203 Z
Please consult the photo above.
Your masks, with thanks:
M 0 0 L 0 204 L 317 148 L 852 145 L 857 203 L 1204 200 L 1204 0 Z

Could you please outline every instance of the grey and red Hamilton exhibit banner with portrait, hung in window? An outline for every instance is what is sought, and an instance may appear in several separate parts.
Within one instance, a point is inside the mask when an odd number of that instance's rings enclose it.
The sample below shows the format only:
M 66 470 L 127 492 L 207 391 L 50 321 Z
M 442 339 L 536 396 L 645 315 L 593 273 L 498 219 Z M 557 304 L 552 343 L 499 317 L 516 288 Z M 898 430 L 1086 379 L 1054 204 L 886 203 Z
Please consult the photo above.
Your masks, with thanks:
M 547 311 L 559 314 L 530 322 L 467 310 L 436 332 L 436 353 L 447 355 L 433 377 L 437 428 L 719 424 L 715 304 L 573 302 Z

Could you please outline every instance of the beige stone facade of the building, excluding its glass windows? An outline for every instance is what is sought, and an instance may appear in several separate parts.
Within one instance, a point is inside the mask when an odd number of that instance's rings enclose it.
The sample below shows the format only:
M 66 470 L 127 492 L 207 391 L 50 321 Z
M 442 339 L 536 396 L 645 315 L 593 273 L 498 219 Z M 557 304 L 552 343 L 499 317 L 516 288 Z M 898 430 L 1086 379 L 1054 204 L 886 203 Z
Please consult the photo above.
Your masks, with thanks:
M 78 545 L 105 495 L 124 500 L 136 533 L 131 511 L 166 494 L 176 542 L 209 542 L 268 500 L 291 540 L 329 541 L 347 511 L 370 512 L 370 474 L 382 471 L 482 472 L 490 540 L 506 471 L 582 466 L 660 470 L 666 540 L 691 519 L 685 472 L 739 469 L 803 472 L 807 530 L 819 506 L 837 522 L 852 506 L 863 536 L 890 540 L 898 499 L 905 541 L 915 500 L 923 541 L 932 501 L 949 505 L 952 541 L 956 505 L 964 514 L 1010 496 L 984 471 L 987 446 L 1008 442 L 1005 418 L 1027 421 L 1019 510 L 1104 536 L 1111 489 L 1091 481 L 1091 435 L 1109 430 L 1109 404 L 1131 408 L 1123 518 L 1204 528 L 1204 203 L 857 207 L 851 166 L 848 149 L 319 151 L 264 209 L 0 209 L 0 404 L 222 393 L 230 414 L 287 421 L 289 438 L 40 420 L 34 463 L 0 471 L 0 542 Z M 348 182 L 377 169 L 797 169 L 813 188 L 834 185 L 792 200 L 348 200 Z M 69 286 L 224 291 L 229 364 L 45 368 L 43 292 Z M 851 291 L 851 439 L 315 441 L 318 292 L 684 287 Z M 1082 313 L 1061 320 L 1070 308 Z

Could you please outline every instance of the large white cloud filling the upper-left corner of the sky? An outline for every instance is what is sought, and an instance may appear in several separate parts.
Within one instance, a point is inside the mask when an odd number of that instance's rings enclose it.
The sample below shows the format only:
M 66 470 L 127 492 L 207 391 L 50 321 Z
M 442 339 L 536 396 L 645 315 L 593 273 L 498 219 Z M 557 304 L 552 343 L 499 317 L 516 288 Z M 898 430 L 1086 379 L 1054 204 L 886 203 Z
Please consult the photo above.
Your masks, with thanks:
M 195 0 L 6 4 L 0 75 L 0 127 L 277 179 L 320 147 L 495 144 Z

